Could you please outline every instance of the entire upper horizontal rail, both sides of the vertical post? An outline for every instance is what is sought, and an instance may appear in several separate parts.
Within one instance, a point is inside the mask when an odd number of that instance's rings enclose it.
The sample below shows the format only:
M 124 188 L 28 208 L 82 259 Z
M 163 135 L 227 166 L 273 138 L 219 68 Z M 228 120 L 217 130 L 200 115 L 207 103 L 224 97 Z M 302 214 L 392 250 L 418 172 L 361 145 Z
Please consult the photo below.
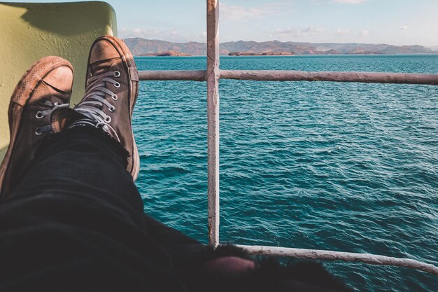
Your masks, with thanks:
M 283 70 L 220 70 L 222 79 L 255 81 L 334 81 L 438 85 L 438 74 L 381 72 L 311 72 Z M 206 81 L 206 70 L 139 71 L 140 80 Z

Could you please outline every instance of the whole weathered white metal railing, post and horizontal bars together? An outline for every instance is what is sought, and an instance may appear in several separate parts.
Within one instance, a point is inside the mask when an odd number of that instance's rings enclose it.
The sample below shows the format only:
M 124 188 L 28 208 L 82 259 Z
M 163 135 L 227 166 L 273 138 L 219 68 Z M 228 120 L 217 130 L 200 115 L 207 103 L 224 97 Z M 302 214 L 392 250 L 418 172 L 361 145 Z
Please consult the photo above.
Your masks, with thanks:
M 438 85 L 438 74 L 372 73 L 372 72 L 306 72 L 280 70 L 220 70 L 218 0 L 207 0 L 207 69 L 188 71 L 139 71 L 146 80 L 186 80 L 207 82 L 207 144 L 208 144 L 208 203 L 209 244 L 219 241 L 219 79 L 254 81 L 334 81 L 361 83 L 408 83 Z M 370 253 L 347 253 L 318 249 L 294 249 L 278 246 L 244 246 L 250 253 L 295 258 L 344 260 L 372 265 L 410 267 L 438 275 L 438 267 L 409 258 L 393 258 Z

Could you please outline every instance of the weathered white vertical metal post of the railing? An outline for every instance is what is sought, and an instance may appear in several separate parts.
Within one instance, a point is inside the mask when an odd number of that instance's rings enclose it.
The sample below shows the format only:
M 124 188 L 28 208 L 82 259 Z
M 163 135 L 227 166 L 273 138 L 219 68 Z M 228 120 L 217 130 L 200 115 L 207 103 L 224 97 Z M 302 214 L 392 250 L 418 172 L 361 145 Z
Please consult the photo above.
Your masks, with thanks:
M 207 0 L 209 244 L 219 244 L 219 0 Z

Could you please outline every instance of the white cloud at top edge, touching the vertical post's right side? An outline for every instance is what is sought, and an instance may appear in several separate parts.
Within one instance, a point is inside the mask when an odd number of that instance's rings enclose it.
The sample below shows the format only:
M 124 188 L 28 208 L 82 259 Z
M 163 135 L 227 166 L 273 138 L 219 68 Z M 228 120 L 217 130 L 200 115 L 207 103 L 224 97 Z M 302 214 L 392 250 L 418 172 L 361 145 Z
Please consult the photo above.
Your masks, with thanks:
M 221 3 L 219 5 L 220 18 L 234 22 L 244 22 L 254 18 L 262 18 L 265 15 L 290 13 L 288 2 L 274 2 L 257 7 L 244 7 Z

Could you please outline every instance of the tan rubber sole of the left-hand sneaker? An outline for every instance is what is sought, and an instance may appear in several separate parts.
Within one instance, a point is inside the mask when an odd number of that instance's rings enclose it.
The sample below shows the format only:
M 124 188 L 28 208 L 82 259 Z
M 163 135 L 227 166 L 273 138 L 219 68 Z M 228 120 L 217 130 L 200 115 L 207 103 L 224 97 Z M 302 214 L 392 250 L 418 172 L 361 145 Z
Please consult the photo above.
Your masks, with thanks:
M 15 146 L 15 140 L 17 138 L 18 132 L 20 132 L 20 127 L 22 124 L 22 113 L 26 109 L 29 100 L 32 97 L 32 93 L 35 88 L 43 81 L 43 78 L 47 76 L 51 71 L 67 66 L 73 71 L 73 67 L 70 62 L 62 59 L 61 57 L 49 56 L 43 57 L 34 63 L 27 71 L 24 73 L 20 81 L 10 97 L 9 109 L 8 109 L 8 122 L 9 122 L 9 133 L 10 141 L 6 155 L 3 158 L 3 162 L 0 165 L 0 201 L 3 202 L 5 189 L 4 179 L 6 177 L 6 171 L 9 167 L 10 156 L 13 152 Z

